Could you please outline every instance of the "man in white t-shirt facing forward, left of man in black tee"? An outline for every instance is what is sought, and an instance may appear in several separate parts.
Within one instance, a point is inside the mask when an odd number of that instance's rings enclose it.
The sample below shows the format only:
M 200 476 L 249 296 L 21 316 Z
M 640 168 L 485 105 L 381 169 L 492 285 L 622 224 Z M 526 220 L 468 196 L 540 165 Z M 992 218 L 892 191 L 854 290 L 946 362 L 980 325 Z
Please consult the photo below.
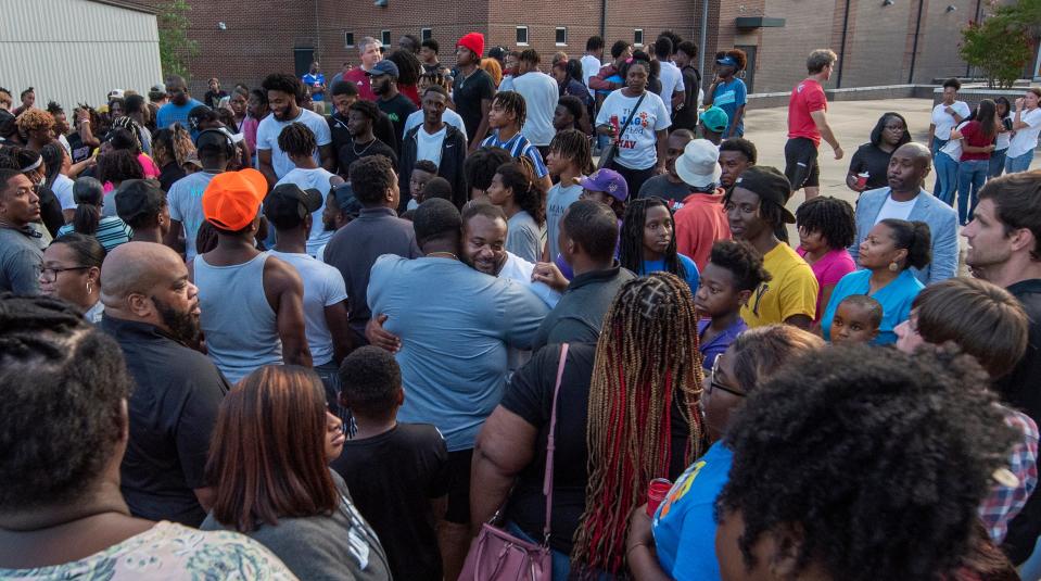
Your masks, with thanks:
M 314 152 L 315 166 L 331 170 L 335 165 L 332 151 L 332 134 L 329 124 L 321 115 L 296 103 L 303 97 L 304 88 L 293 75 L 275 73 L 264 79 L 262 87 L 267 92 L 271 114 L 264 117 L 256 129 L 256 156 L 261 173 L 267 182 L 274 186 L 293 169 L 294 164 L 278 144 L 282 129 L 291 123 L 302 123 L 315 135 L 317 148 Z M 320 155 L 320 156 L 319 156 Z

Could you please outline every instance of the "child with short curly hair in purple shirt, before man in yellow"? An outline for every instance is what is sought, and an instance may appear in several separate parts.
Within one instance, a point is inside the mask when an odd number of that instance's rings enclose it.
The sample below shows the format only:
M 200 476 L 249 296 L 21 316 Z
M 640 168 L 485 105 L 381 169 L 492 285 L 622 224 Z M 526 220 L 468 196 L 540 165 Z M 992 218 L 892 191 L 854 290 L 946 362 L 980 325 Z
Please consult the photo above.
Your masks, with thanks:
M 741 306 L 766 280 L 770 273 L 763 268 L 763 258 L 748 242 L 720 240 L 712 244 L 709 263 L 701 271 L 694 295 L 694 306 L 701 316 L 698 345 L 706 372 L 712 369 L 715 357 L 748 329 L 741 318 Z

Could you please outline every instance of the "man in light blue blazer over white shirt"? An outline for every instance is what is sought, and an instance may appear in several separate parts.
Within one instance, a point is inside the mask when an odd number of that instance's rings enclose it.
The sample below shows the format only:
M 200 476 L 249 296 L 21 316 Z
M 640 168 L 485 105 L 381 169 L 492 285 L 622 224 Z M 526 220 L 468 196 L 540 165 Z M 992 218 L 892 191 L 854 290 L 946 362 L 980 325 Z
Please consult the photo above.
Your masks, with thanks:
M 932 168 L 932 154 L 922 143 L 904 143 L 889 159 L 889 186 L 868 190 L 856 201 L 856 241 L 850 247 L 853 260 L 867 232 L 887 218 L 924 222 L 932 237 L 932 262 L 912 268 L 923 285 L 931 285 L 957 274 L 957 212 L 925 190 L 925 178 Z

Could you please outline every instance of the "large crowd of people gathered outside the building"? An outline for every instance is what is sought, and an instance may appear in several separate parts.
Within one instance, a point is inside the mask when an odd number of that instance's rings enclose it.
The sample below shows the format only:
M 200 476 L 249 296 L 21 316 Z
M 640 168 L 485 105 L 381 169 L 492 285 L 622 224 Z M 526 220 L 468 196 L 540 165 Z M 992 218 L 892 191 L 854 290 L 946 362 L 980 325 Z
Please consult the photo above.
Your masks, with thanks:
M 1041 89 L 441 48 L 0 88 L 0 578 L 1041 579 Z

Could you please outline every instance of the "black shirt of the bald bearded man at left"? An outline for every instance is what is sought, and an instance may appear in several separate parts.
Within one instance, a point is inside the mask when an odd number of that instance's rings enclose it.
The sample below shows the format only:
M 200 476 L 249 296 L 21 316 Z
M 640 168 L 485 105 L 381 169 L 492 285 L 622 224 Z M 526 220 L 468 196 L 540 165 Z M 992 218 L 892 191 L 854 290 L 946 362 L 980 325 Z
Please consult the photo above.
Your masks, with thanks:
M 105 314 L 101 329 L 119 343 L 137 384 L 119 470 L 130 514 L 199 527 L 206 511 L 192 489 L 208 484 L 210 437 L 228 380 L 208 357 L 155 326 Z

